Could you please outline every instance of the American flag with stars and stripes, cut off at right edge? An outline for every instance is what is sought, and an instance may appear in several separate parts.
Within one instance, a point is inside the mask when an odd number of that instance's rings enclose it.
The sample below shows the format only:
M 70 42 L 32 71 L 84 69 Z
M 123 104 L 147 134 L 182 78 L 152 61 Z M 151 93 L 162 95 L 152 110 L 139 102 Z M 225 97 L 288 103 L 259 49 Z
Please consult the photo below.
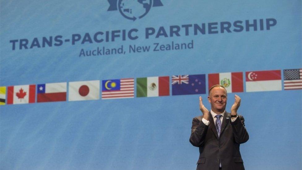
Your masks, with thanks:
M 302 69 L 283 70 L 284 90 L 302 89 Z

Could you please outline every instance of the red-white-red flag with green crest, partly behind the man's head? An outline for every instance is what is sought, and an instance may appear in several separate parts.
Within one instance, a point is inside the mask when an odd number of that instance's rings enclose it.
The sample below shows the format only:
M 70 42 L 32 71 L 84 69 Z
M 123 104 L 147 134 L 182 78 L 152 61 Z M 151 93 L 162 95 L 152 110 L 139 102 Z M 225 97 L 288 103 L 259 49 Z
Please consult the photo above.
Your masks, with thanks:
M 228 93 L 243 92 L 243 73 L 225 72 L 209 74 L 209 89 L 213 85 L 222 85 Z

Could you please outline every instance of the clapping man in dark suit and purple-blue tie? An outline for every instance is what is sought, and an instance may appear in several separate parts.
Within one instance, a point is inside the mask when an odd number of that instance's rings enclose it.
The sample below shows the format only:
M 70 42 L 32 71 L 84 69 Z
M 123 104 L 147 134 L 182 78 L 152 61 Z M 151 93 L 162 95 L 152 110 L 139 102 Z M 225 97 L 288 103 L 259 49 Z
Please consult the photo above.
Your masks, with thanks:
M 244 170 L 239 145 L 248 141 L 244 118 L 237 114 L 241 99 L 235 95 L 231 113 L 225 111 L 227 93 L 221 85 L 209 89 L 209 111 L 199 97 L 202 116 L 193 118 L 190 142 L 199 147 L 196 170 Z

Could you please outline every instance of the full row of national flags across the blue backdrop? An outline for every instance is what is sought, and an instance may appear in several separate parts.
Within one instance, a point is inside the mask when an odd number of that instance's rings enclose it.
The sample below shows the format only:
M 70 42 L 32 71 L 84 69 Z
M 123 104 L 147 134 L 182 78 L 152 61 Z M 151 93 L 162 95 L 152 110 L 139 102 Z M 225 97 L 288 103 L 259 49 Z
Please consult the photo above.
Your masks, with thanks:
M 285 90 L 302 89 L 302 69 L 283 70 Z M 282 90 L 281 70 L 245 72 L 246 92 Z M 244 92 L 243 72 L 208 74 L 208 88 L 220 84 L 228 93 Z M 172 95 L 206 94 L 205 74 L 171 76 Z M 100 99 L 100 81 L 68 83 L 68 101 Z M 0 87 L 1 105 L 67 101 L 67 82 Z M 37 92 L 37 93 L 36 93 Z M 170 95 L 170 77 L 136 78 L 136 97 Z M 101 99 L 134 98 L 134 78 L 102 80 Z

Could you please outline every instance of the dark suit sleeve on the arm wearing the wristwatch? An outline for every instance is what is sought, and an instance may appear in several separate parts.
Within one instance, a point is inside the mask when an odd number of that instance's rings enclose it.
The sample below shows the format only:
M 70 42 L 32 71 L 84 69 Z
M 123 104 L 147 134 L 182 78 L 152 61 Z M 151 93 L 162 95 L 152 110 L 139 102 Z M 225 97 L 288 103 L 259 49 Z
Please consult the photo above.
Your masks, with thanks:
M 238 119 L 239 118 L 239 119 Z M 244 118 L 243 116 L 238 116 L 238 118 L 231 122 L 233 133 L 235 137 L 235 142 L 238 144 L 244 143 L 248 141 L 248 131 L 245 129 L 244 126 Z

